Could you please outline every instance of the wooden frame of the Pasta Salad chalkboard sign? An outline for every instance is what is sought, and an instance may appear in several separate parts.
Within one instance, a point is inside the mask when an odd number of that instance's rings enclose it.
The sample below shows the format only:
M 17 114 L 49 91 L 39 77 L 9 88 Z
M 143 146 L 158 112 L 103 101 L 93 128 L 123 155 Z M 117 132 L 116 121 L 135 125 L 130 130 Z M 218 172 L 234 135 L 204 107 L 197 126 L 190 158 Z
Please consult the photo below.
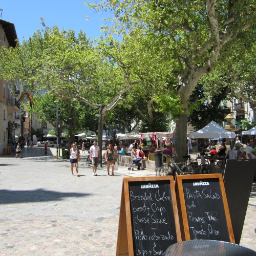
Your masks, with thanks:
M 185 203 L 185 196 L 183 190 L 183 181 L 184 180 L 202 180 L 207 181 L 207 179 L 217 179 L 220 184 L 220 190 L 222 194 L 222 202 L 225 211 L 225 218 L 227 223 L 228 235 L 230 239 L 230 243 L 234 243 L 234 234 L 227 204 L 226 192 L 224 188 L 223 178 L 221 174 L 204 174 L 204 175 L 179 175 L 176 176 L 175 181 L 175 190 L 176 190 L 176 198 L 178 204 L 178 212 L 180 216 L 180 228 L 181 228 L 181 237 L 182 241 L 191 240 L 190 232 L 189 232 L 189 223 L 187 217 L 187 208 Z

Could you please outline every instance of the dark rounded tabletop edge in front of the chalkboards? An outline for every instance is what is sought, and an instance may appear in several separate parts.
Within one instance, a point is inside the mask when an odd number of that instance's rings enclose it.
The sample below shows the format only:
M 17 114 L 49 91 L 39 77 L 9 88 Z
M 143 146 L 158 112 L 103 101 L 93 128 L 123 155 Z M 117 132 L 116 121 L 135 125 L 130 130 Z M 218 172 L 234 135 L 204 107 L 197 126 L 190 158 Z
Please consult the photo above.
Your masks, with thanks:
M 255 256 L 256 252 L 247 247 L 215 240 L 189 240 L 173 244 L 165 256 Z

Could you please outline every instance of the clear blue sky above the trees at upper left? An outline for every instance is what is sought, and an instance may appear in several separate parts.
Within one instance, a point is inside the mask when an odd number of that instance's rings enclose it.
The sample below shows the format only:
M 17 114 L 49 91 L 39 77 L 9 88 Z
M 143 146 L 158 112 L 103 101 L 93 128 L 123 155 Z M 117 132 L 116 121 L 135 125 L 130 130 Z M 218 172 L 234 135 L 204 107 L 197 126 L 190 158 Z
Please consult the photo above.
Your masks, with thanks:
M 87 37 L 95 39 L 100 36 L 103 15 L 83 6 L 84 2 L 93 0 L 1 0 L 0 8 L 4 9 L 1 19 L 14 23 L 20 42 L 42 29 L 40 17 L 49 27 L 72 29 L 76 34 L 81 29 Z M 89 20 L 86 20 L 87 16 Z

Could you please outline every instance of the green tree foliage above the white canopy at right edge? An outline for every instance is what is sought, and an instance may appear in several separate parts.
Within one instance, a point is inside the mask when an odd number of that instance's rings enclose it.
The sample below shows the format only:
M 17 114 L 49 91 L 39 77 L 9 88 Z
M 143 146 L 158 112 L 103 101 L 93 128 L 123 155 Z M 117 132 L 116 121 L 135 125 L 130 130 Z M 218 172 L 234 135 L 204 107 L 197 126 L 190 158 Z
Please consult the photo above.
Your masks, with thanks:
M 224 46 L 217 67 L 199 79 L 198 86 L 189 98 L 189 102 L 201 100 L 188 116 L 189 123 L 196 130 L 211 120 L 217 123 L 224 121 L 231 110 L 223 104 L 221 106 L 222 101 L 241 99 L 249 102 L 256 113 L 255 39 L 253 30 L 243 34 L 243 37 L 239 35 L 237 40 L 240 44 L 232 48 L 229 44 Z

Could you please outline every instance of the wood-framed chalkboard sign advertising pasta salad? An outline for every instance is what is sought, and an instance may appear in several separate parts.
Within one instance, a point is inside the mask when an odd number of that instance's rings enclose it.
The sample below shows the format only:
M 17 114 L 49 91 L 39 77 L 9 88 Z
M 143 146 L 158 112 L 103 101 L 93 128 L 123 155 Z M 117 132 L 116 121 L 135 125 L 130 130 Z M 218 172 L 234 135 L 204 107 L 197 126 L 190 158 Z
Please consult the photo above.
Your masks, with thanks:
M 221 174 L 177 176 L 175 189 L 182 241 L 234 243 Z

